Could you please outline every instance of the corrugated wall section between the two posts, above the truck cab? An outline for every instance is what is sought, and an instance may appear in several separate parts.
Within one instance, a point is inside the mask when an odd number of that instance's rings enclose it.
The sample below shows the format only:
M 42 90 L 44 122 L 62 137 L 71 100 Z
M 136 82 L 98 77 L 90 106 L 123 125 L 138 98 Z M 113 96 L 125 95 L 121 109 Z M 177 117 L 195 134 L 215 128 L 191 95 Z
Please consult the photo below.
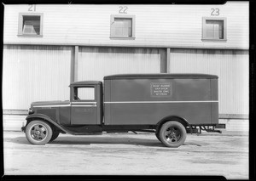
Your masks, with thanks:
M 160 73 L 157 48 L 79 48 L 78 80 L 102 81 L 103 76 Z

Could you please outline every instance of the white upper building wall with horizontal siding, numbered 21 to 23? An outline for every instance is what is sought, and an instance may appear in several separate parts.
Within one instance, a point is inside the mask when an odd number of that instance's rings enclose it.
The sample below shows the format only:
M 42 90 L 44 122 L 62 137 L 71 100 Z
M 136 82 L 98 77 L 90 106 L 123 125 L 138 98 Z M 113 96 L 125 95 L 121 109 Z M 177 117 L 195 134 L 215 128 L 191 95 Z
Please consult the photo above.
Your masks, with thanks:
M 135 40 L 110 38 L 110 15 L 135 15 Z M 4 6 L 4 43 L 105 46 L 248 48 L 248 2 L 223 5 L 29 5 Z M 211 15 L 218 8 L 219 15 Z M 43 13 L 43 37 L 19 37 L 19 13 Z M 202 17 L 226 17 L 227 41 L 202 41 Z

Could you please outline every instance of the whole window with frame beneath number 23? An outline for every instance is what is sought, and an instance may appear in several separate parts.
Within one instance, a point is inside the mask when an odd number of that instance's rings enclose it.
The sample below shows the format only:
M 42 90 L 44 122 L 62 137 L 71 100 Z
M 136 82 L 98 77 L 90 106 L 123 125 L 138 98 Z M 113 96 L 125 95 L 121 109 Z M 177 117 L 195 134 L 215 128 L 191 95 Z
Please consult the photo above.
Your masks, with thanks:
M 203 18 L 202 40 L 226 40 L 225 18 Z

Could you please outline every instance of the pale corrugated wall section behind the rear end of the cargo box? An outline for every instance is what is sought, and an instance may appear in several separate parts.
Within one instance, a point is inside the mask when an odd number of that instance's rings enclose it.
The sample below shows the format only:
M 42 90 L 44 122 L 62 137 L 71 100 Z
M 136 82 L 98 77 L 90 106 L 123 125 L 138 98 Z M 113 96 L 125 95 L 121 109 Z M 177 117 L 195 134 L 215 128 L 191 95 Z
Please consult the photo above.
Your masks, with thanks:
M 220 114 L 248 114 L 248 51 L 171 49 L 171 73 L 218 75 Z

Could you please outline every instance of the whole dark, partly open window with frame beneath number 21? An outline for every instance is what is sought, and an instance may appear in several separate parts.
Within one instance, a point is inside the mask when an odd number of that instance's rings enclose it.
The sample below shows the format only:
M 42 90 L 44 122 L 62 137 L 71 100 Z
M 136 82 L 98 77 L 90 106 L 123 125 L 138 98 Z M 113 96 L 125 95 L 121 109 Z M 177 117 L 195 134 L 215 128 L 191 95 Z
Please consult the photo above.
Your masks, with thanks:
M 19 14 L 19 31 L 21 36 L 43 36 L 43 14 Z

